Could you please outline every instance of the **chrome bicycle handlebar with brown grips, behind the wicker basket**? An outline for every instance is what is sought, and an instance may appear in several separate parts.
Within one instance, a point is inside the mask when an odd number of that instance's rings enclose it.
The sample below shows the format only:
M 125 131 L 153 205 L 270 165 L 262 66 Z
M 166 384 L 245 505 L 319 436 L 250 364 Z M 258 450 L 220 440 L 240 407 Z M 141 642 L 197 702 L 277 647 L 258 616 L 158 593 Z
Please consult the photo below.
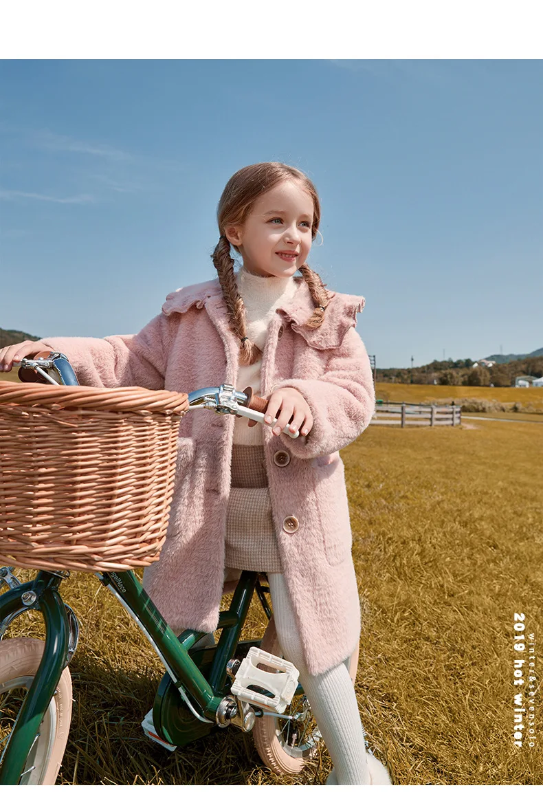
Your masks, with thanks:
M 62 352 L 50 352 L 46 358 L 23 358 L 22 361 L 14 361 L 14 366 L 19 366 L 19 379 L 24 382 L 46 382 L 56 386 L 79 386 L 79 381 L 70 361 Z M 24 376 L 27 371 L 27 377 Z M 36 377 L 28 377 L 38 376 Z M 41 381 L 40 377 L 44 380 Z M 239 417 L 247 417 L 259 423 L 264 422 L 265 412 L 268 408 L 268 400 L 253 394 L 252 387 L 247 387 L 243 392 L 237 391 L 230 383 L 222 383 L 219 387 L 205 387 L 188 392 L 188 410 L 196 408 L 213 409 L 218 414 L 234 414 Z M 274 428 L 277 417 L 274 417 L 269 425 Z M 300 431 L 290 430 L 287 423 L 282 430 L 283 434 L 295 439 L 300 437 Z

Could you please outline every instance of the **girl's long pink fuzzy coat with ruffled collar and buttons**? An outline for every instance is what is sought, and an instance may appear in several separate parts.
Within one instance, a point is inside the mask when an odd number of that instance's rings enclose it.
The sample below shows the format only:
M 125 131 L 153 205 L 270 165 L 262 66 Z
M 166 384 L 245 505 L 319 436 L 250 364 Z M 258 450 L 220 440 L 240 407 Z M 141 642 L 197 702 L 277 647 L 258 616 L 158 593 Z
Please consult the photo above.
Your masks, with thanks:
M 364 298 L 330 292 L 317 330 L 304 322 L 314 305 L 307 283 L 269 322 L 261 394 L 295 387 L 313 416 L 308 437 L 276 437 L 264 428 L 265 464 L 283 575 L 299 621 L 308 669 L 325 672 L 346 659 L 360 637 L 360 603 L 351 559 L 343 460 L 373 415 L 368 354 L 355 330 Z M 166 296 L 162 313 L 137 335 L 48 338 L 81 384 L 195 391 L 235 383 L 239 339 L 231 332 L 218 279 Z M 172 628 L 211 632 L 218 624 L 224 575 L 226 506 L 234 421 L 207 409 L 180 423 L 174 499 L 159 561 L 144 586 Z M 287 451 L 288 464 L 274 461 Z M 292 516 L 297 521 L 292 520 Z

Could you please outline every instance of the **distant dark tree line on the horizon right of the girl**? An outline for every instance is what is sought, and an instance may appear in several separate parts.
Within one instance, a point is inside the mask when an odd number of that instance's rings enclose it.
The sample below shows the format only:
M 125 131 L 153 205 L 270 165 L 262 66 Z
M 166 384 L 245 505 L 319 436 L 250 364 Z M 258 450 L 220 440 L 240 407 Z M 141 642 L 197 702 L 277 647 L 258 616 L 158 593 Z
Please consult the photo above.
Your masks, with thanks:
M 413 369 L 378 369 L 377 382 L 381 383 L 437 383 L 452 387 L 513 387 L 519 375 L 543 377 L 543 356 L 519 358 L 507 364 L 494 364 L 490 368 L 473 366 L 471 358 L 453 361 L 433 361 Z

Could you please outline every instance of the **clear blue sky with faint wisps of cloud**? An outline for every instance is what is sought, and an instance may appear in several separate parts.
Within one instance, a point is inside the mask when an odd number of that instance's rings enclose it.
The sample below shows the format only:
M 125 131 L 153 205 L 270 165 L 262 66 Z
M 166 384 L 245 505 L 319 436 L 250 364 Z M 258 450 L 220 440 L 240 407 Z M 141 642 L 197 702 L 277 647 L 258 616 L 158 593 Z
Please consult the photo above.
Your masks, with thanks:
M 0 62 L 0 326 L 133 333 L 215 275 L 241 166 L 300 167 L 377 365 L 543 346 L 541 60 Z

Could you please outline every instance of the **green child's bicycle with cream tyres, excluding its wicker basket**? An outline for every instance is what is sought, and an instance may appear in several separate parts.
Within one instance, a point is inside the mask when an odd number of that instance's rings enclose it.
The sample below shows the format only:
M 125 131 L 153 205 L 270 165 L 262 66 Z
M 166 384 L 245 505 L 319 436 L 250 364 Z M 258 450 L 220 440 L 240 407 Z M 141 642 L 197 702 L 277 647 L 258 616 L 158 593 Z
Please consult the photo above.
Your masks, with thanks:
M 18 365 L 21 380 L 35 375 L 48 384 L 79 383 L 62 353 L 24 358 Z M 188 393 L 188 403 L 189 409 L 208 408 L 260 422 L 267 408 L 266 400 L 250 390 L 235 391 L 230 384 Z M 284 431 L 289 432 L 288 425 Z M 281 657 L 265 573 L 242 572 L 230 606 L 220 612 L 218 642 L 203 647 L 197 647 L 203 632 L 187 629 L 175 636 L 131 569 L 95 574 L 135 620 L 166 668 L 152 719 L 148 715 L 142 723 L 149 738 L 175 749 L 234 724 L 253 732 L 262 761 L 279 775 L 300 773 L 317 755 L 321 734 L 297 670 Z M 75 612 L 58 592 L 68 575 L 41 570 L 32 581 L 21 583 L 12 567 L 0 568 L 0 585 L 3 581 L 8 588 L 0 595 L 0 784 L 54 784 L 62 764 L 71 723 L 69 663 L 79 637 Z M 261 640 L 243 641 L 255 593 L 268 625 Z M 2 640 L 12 620 L 30 610 L 43 615 L 45 641 Z M 358 651 L 351 658 L 353 681 L 357 662 Z

